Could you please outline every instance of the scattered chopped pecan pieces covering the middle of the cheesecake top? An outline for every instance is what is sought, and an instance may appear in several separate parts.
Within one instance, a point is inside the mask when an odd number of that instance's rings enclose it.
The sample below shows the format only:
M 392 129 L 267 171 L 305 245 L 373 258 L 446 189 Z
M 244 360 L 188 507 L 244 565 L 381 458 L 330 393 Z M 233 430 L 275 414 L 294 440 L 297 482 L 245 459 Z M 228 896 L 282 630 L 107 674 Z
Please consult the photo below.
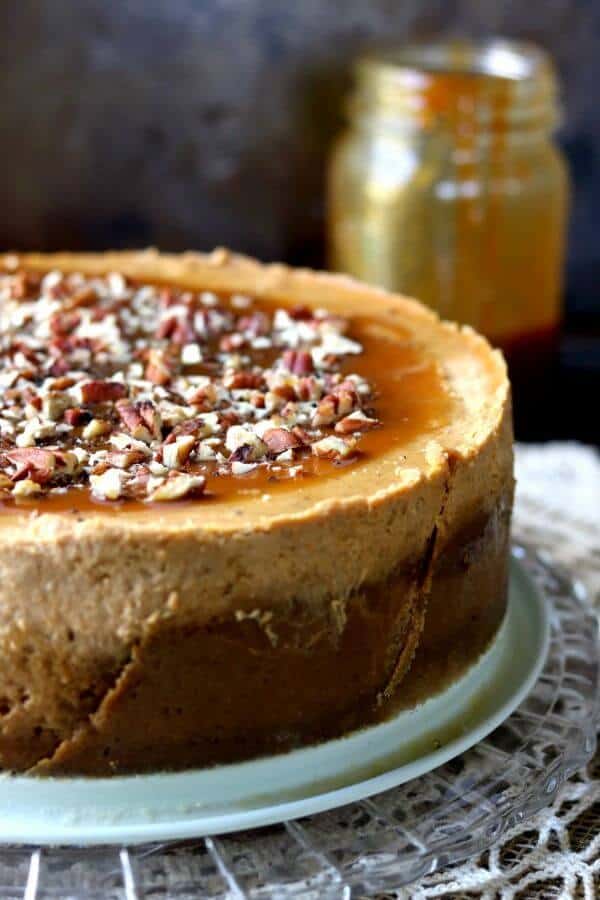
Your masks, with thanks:
M 144 284 L 0 275 L 0 495 L 168 502 L 350 465 L 381 427 L 350 322 Z

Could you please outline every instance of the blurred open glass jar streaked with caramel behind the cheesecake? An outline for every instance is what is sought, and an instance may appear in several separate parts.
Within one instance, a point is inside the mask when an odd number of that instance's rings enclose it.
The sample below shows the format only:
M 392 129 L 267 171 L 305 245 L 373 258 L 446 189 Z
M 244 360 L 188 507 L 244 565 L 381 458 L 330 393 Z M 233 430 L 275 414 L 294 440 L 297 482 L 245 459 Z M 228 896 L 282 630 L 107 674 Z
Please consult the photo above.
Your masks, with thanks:
M 525 43 L 360 60 L 329 170 L 331 268 L 413 295 L 511 349 L 560 322 L 568 175 L 557 83 Z

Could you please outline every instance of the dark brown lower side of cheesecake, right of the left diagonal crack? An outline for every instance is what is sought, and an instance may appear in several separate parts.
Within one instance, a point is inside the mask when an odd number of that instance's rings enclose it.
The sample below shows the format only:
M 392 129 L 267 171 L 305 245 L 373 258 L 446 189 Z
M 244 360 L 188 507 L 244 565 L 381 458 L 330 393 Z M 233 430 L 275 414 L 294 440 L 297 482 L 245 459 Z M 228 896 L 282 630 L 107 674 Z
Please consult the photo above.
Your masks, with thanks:
M 338 737 L 432 696 L 475 662 L 503 620 L 507 543 L 492 535 L 492 519 L 481 525 L 476 549 L 471 535 L 438 556 L 431 593 L 422 583 L 427 560 L 420 572 L 358 591 L 333 613 L 336 625 L 310 620 L 304 640 L 298 610 L 204 629 L 157 627 L 89 721 L 31 771 L 112 775 L 234 762 Z M 436 619 L 449 618 L 457 584 L 465 602 L 445 631 Z M 421 635 L 426 605 L 433 627 Z

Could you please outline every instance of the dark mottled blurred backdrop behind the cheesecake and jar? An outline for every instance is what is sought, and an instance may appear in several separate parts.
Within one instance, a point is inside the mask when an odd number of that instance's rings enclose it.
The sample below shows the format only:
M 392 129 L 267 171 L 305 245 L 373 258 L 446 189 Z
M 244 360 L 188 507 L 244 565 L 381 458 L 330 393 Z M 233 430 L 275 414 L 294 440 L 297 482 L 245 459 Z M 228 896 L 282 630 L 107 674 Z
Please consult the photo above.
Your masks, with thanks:
M 600 2 L 19 0 L 0 26 L 2 247 L 226 244 L 317 267 L 357 56 L 439 35 L 547 50 L 572 180 L 565 315 L 517 434 L 600 440 Z

